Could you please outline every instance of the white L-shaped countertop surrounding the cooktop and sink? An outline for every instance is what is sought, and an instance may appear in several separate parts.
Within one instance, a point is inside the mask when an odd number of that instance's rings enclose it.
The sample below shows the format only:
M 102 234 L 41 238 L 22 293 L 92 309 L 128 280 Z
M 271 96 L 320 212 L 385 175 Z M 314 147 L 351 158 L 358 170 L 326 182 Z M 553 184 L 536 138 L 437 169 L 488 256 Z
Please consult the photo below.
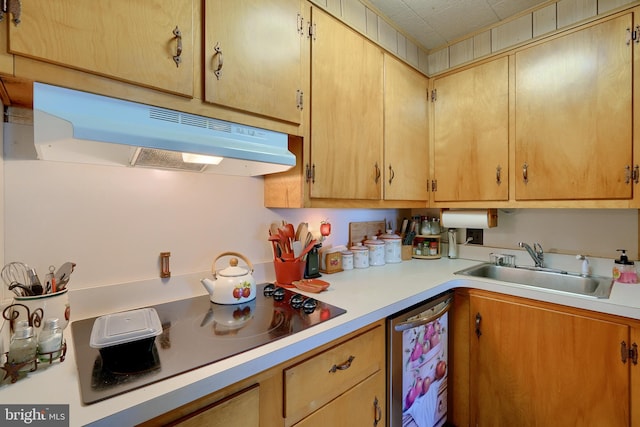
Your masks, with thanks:
M 453 274 L 478 263 L 479 261 L 447 258 L 411 260 L 324 275 L 323 279 L 331 283 L 331 287 L 314 296 L 318 300 L 344 308 L 347 310 L 346 314 L 257 349 L 92 405 L 83 405 L 81 402 L 71 328 L 67 328 L 65 334 L 69 348 L 65 362 L 39 369 L 15 384 L 0 386 L 0 402 L 23 405 L 69 404 L 71 426 L 134 425 L 458 287 L 486 289 L 640 319 L 640 285 L 616 283 L 609 299 L 594 299 L 489 279 L 469 280 Z M 170 287 L 166 283 L 158 285 L 163 286 L 160 292 L 148 292 L 148 289 L 138 286 L 135 292 L 139 295 L 156 296 L 142 299 L 134 295 L 134 291 L 130 291 L 126 298 L 129 305 L 127 306 L 127 302 L 119 302 L 118 306 L 111 307 L 111 311 L 203 295 L 204 289 L 199 285 L 198 277 L 190 275 L 176 278 Z M 184 283 L 180 283 L 181 280 Z M 181 289 L 182 294 L 175 290 L 177 288 Z M 113 289 L 115 287 L 92 290 L 91 297 L 102 298 L 107 293 L 113 294 Z M 88 298 L 89 292 L 78 292 L 79 296 L 76 297 L 73 292 L 70 294 L 72 321 L 104 314 L 76 310 L 76 305 L 81 305 L 83 299 Z M 163 296 L 158 297 L 157 294 Z M 137 301 L 138 304 L 131 305 L 131 301 Z M 75 316 L 76 311 L 82 314 L 79 318 Z

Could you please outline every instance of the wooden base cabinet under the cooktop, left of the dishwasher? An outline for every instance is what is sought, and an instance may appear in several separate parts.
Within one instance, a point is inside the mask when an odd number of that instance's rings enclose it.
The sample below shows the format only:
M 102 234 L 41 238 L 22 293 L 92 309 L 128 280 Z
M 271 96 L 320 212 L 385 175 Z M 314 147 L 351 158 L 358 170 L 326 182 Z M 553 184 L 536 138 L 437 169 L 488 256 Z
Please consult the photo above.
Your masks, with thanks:
M 384 320 L 140 424 L 385 425 Z

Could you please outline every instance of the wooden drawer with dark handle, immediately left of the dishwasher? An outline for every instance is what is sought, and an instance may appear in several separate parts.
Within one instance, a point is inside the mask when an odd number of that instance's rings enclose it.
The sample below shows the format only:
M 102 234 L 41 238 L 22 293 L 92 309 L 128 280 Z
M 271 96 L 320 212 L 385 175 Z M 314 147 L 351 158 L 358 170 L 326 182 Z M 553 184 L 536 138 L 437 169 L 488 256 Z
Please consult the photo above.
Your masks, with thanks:
M 365 378 L 384 370 L 384 363 L 384 328 L 377 326 L 285 369 L 286 425 L 297 422 Z

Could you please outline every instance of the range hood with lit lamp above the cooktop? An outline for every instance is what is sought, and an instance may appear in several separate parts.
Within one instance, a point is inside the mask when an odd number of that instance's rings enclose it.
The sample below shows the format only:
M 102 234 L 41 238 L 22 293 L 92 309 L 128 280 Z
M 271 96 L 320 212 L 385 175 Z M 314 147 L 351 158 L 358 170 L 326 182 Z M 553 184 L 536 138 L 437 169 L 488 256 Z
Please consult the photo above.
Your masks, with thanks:
M 42 83 L 33 85 L 33 128 L 41 160 L 241 176 L 296 163 L 284 133 Z M 188 163 L 183 153 L 222 160 Z

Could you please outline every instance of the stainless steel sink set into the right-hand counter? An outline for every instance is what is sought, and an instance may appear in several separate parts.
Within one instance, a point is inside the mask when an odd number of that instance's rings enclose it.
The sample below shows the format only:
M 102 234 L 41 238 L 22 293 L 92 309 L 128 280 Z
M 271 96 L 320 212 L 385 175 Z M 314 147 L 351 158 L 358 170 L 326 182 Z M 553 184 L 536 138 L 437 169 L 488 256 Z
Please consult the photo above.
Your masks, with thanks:
M 542 267 L 505 267 L 491 263 L 479 264 L 454 274 L 471 277 L 484 277 L 501 282 L 553 289 L 572 294 L 595 298 L 609 298 L 613 279 L 602 276 L 584 277 L 562 270 Z

